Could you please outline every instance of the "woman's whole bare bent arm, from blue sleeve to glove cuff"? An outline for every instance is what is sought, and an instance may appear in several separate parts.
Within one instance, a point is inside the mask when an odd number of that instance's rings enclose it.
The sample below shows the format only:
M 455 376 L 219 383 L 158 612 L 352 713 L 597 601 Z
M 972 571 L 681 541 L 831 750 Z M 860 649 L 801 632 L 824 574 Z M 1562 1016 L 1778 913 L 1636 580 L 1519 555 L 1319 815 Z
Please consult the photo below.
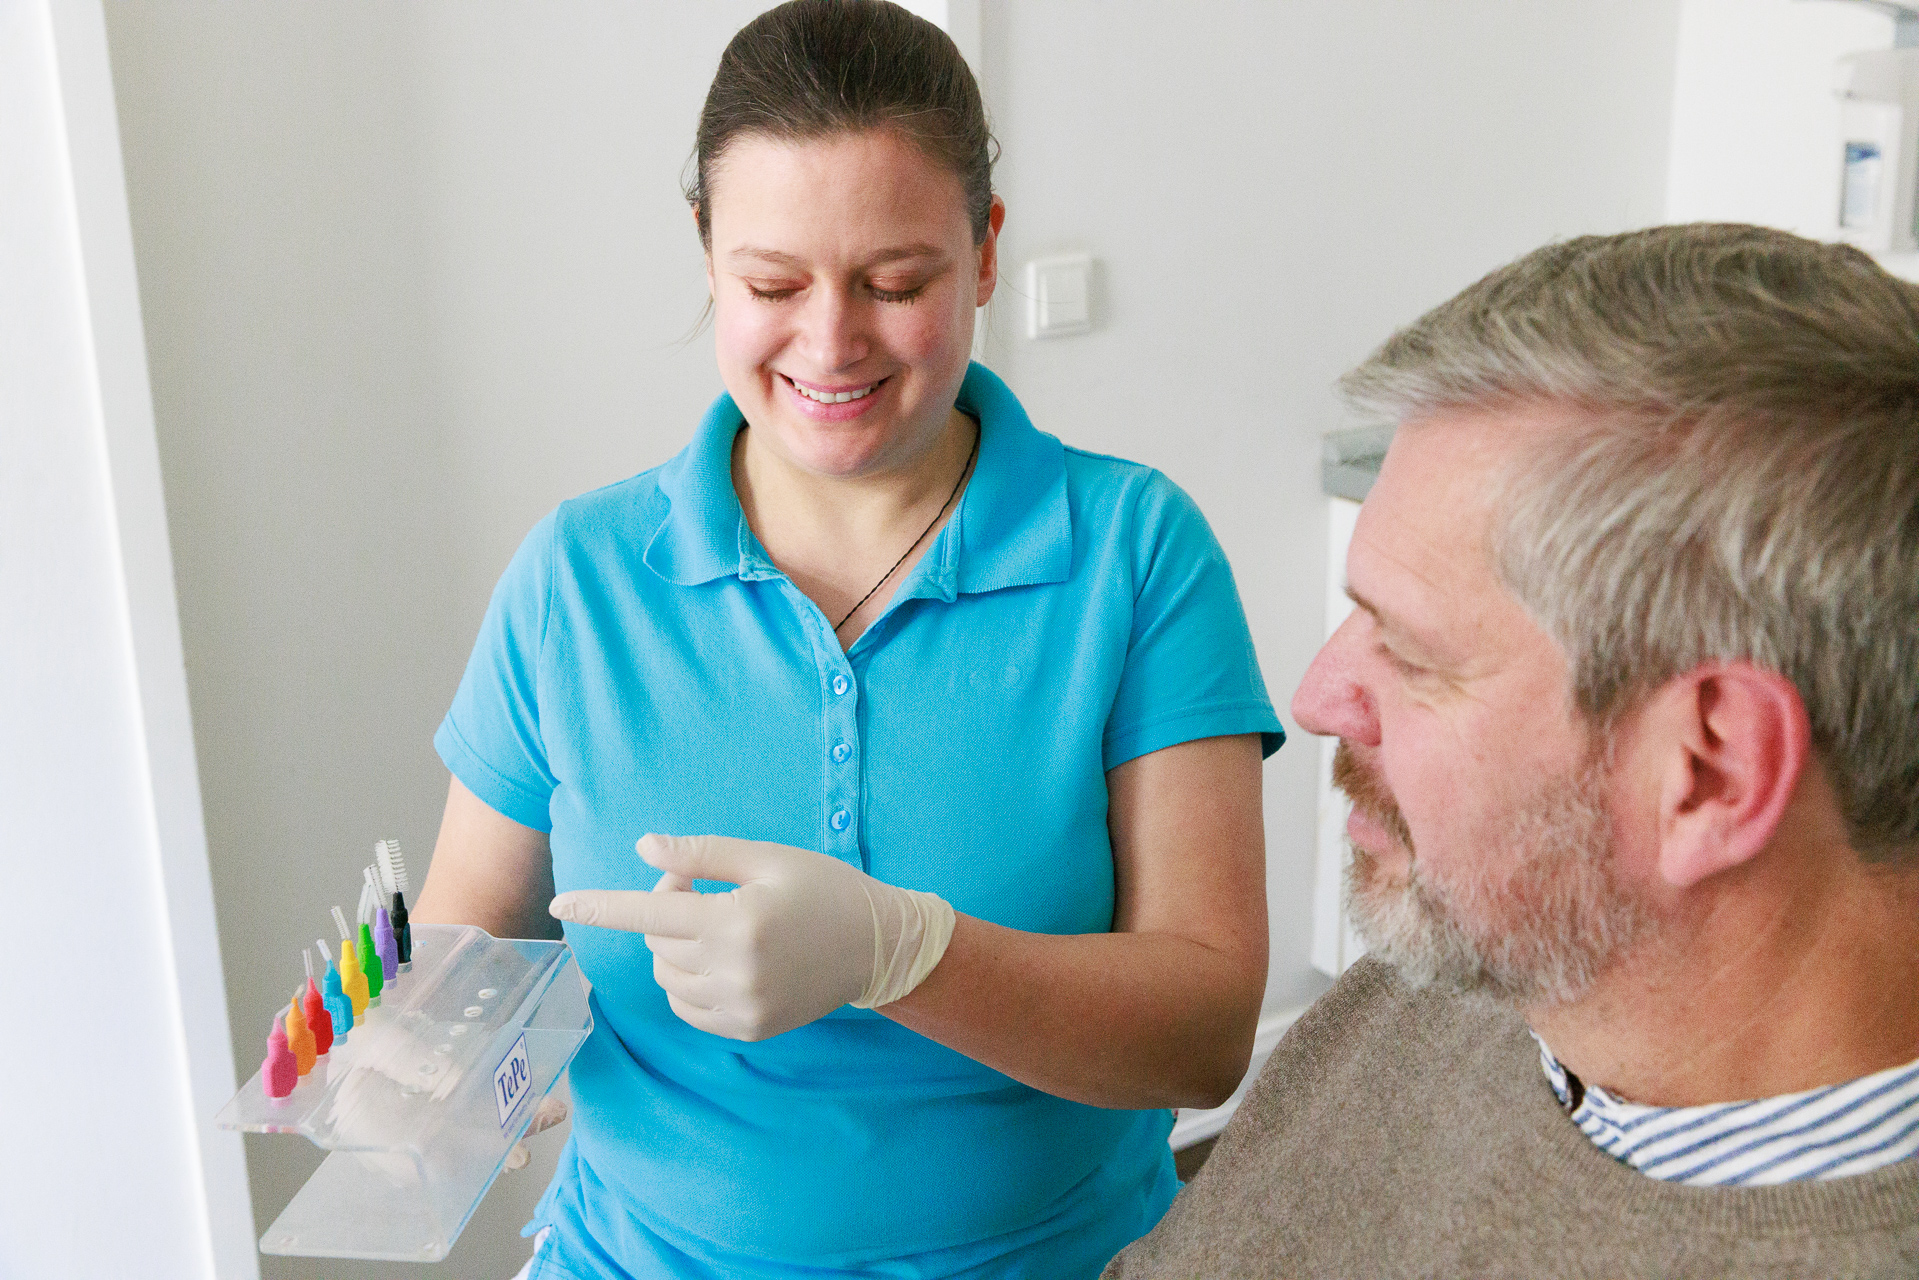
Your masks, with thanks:
M 1259 735 L 1107 771 L 1113 933 L 961 915 L 946 956 L 881 1011 L 1006 1075 L 1098 1107 L 1222 1103 L 1267 986 Z

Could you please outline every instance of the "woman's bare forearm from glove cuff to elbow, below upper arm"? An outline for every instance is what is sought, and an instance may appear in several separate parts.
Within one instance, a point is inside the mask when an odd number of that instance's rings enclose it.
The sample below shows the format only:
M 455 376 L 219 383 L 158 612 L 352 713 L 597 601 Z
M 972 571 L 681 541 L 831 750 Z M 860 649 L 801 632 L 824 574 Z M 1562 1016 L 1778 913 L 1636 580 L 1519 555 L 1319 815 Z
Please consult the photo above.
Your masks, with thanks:
M 1059 1098 L 1215 1107 L 1245 1075 L 1265 981 L 1263 946 L 1057 936 L 961 915 L 938 967 L 881 1013 Z

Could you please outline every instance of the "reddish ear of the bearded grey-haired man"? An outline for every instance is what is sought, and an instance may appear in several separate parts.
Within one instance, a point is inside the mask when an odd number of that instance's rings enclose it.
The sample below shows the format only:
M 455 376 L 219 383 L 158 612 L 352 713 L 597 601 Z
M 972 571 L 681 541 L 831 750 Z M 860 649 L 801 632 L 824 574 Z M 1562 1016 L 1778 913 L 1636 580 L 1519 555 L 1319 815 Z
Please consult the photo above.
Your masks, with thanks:
M 1660 879 L 1691 889 L 1773 839 L 1812 760 L 1812 720 L 1790 679 L 1750 662 L 1666 681 L 1643 710 L 1656 752 Z

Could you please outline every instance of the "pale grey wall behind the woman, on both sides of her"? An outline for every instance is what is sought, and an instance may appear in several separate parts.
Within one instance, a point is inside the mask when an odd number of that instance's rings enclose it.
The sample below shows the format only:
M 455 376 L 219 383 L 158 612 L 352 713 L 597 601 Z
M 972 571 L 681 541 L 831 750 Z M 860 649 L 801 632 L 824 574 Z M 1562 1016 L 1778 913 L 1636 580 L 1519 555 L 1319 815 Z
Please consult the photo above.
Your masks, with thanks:
M 376 837 L 415 871 L 430 737 L 555 501 L 718 390 L 677 177 L 756 4 L 125 0 L 109 33 L 186 666 L 246 1071 Z M 1007 263 L 1102 261 L 1100 328 L 990 357 L 1042 428 L 1213 518 L 1284 708 L 1322 616 L 1334 376 L 1562 234 L 1656 221 L 1675 0 L 981 6 Z M 1268 1007 L 1311 998 L 1315 752 L 1268 766 Z M 249 1140 L 259 1226 L 317 1161 Z M 447 1274 L 509 1274 L 558 1144 Z M 401 1268 L 265 1259 L 269 1276 Z M 411 1272 L 407 1272 L 411 1274 Z

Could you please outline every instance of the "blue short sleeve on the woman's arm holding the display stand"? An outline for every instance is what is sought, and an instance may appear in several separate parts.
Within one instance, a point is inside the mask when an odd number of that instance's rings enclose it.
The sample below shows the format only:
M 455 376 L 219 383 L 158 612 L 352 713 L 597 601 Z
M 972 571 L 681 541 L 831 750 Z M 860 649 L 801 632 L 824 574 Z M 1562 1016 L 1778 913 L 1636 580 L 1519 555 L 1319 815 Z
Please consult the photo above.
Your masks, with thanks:
M 520 543 L 493 587 L 480 639 L 434 748 L 466 791 L 522 827 L 551 831 L 557 781 L 539 735 L 539 652 L 553 603 L 558 512 Z

